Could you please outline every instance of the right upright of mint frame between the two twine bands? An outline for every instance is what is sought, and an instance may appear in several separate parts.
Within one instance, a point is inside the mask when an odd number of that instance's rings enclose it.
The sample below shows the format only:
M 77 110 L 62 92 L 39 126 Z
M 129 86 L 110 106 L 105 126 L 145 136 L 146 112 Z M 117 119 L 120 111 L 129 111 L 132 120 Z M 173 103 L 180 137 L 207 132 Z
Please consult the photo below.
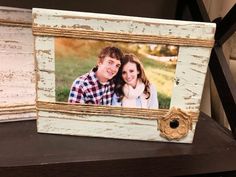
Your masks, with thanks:
M 210 48 L 179 48 L 170 107 L 199 111 L 210 53 Z

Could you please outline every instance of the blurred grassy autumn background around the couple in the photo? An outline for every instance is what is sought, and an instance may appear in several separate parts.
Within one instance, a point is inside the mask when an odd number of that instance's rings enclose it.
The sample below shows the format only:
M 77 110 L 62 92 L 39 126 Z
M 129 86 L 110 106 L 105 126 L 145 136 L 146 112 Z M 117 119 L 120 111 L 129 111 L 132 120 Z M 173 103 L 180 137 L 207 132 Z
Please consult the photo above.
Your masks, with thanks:
M 56 101 L 67 102 L 73 81 L 96 66 L 97 56 L 106 46 L 116 46 L 124 53 L 134 53 L 143 63 L 149 81 L 157 88 L 159 108 L 169 109 L 178 47 L 144 43 L 57 38 Z

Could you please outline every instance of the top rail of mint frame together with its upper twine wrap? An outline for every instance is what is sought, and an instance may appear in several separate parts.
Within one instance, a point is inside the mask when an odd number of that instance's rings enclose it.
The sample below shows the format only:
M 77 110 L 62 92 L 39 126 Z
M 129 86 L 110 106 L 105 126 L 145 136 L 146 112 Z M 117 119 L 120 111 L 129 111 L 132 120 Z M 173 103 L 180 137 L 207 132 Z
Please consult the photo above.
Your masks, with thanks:
M 206 47 L 214 44 L 213 23 L 37 8 L 33 9 L 33 21 L 35 35 Z

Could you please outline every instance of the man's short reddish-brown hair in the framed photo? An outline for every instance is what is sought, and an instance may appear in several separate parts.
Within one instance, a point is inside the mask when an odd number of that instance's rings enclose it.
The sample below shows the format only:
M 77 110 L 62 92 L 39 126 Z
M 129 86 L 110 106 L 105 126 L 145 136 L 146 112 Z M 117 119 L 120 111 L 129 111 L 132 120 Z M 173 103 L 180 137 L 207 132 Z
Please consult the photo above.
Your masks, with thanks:
M 121 61 L 121 59 L 123 58 L 123 52 L 117 47 L 108 46 L 101 50 L 98 58 L 102 62 L 106 56 L 116 58 L 117 60 Z

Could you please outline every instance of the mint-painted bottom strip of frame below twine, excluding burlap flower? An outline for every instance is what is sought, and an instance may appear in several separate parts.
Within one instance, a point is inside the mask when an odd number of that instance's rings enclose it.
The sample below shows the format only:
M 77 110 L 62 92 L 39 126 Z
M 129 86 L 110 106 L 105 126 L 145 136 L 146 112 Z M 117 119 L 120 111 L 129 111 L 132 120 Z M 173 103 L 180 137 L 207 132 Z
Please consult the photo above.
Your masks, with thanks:
M 110 116 L 72 116 L 39 111 L 37 129 L 40 133 L 92 136 L 145 141 L 168 141 L 159 135 L 156 120 L 118 118 Z M 182 143 L 191 143 L 195 131 L 189 131 Z M 173 140 L 172 142 L 179 142 Z

